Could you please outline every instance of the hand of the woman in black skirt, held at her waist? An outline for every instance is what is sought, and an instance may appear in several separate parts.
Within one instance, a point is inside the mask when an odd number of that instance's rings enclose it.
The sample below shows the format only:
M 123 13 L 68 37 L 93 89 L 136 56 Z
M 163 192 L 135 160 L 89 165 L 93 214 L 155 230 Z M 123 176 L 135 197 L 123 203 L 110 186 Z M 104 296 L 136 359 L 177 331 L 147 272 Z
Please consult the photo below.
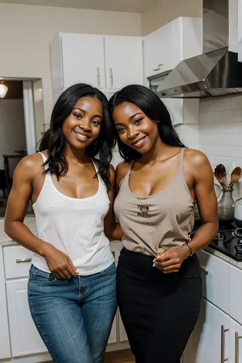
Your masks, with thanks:
M 180 270 L 181 264 L 190 255 L 189 248 L 184 245 L 181 247 L 170 247 L 159 254 L 155 259 L 156 267 L 164 274 L 172 274 Z

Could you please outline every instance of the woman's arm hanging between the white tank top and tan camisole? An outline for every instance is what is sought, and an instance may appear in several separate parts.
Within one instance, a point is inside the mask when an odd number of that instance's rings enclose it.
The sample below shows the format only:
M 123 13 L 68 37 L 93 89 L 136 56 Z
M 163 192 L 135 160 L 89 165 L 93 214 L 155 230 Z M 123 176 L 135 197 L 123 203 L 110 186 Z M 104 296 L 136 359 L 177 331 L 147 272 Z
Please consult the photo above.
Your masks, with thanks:
M 122 231 L 119 223 L 115 221 L 115 215 L 113 210 L 114 200 L 116 198 L 116 188 L 115 188 L 115 170 L 114 167 L 109 165 L 111 188 L 108 192 L 108 197 L 110 200 L 109 210 L 104 219 L 104 233 L 110 239 L 122 240 L 124 232 Z

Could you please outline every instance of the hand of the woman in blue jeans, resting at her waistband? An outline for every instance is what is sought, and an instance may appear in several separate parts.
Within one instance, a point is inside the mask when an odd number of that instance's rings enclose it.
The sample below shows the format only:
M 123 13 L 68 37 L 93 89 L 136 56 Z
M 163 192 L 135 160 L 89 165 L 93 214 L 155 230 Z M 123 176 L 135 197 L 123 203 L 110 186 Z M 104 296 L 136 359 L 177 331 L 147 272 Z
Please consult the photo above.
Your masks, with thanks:
M 45 258 L 50 271 L 58 279 L 70 279 L 72 276 L 78 275 L 78 271 L 69 256 L 54 246 L 46 244 L 41 256 Z

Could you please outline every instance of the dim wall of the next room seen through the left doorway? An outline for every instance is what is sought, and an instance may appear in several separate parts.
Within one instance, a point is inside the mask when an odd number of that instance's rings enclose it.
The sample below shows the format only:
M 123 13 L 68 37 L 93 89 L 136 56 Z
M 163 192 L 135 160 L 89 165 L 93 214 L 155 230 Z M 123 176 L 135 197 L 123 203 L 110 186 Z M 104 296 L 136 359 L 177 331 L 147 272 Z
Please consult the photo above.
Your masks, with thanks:
M 4 168 L 3 154 L 14 154 L 20 147 L 26 150 L 23 100 L 0 99 L 0 169 Z

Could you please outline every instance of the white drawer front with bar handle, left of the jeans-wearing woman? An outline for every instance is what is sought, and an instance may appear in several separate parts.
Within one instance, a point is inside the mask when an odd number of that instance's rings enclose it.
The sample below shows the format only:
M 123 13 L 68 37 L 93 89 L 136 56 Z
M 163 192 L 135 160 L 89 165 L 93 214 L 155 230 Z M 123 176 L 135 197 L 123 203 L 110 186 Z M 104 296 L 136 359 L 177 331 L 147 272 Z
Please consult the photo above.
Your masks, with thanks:
M 22 246 L 7 246 L 3 250 L 6 279 L 29 276 L 34 253 Z

